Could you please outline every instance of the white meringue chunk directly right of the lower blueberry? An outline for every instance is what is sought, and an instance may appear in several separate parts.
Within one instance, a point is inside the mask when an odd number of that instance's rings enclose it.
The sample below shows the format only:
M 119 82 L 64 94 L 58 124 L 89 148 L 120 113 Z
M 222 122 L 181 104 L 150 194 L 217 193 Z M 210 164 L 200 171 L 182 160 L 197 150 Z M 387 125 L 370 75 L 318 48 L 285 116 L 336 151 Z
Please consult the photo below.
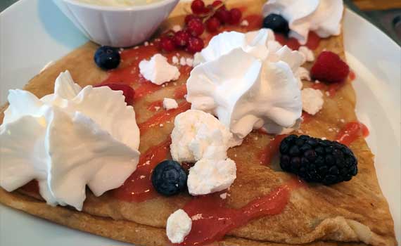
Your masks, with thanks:
M 236 179 L 236 163 L 231 160 L 202 159 L 189 169 L 187 186 L 191 195 L 225 190 Z

